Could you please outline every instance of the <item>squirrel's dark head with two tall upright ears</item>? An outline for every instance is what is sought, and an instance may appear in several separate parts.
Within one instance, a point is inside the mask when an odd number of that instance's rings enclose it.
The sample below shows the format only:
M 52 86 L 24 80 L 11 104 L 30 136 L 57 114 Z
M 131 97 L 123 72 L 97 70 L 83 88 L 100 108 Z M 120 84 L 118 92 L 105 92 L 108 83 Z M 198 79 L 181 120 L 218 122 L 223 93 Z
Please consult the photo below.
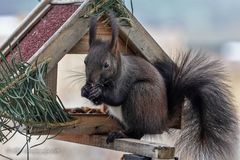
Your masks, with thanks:
M 96 39 L 97 18 L 92 17 L 90 21 L 89 53 L 84 60 L 88 84 L 104 85 L 109 80 L 114 79 L 119 72 L 118 27 L 112 13 L 109 14 L 109 17 L 112 27 L 112 39 L 110 41 Z

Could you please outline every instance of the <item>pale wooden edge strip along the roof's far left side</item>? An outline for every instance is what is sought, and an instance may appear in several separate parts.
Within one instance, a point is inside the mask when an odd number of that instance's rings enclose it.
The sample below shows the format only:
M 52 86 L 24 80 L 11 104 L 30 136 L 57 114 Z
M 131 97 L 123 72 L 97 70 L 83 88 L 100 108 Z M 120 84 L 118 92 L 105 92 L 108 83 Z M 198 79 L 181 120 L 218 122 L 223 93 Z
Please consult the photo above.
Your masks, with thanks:
M 9 36 L 9 38 L 0 46 L 0 50 L 4 52 L 12 42 L 17 42 L 21 34 L 26 27 L 29 27 L 29 23 L 38 16 L 40 12 L 49 4 L 50 0 L 41 1 L 22 21 L 22 23 L 17 27 L 17 29 Z

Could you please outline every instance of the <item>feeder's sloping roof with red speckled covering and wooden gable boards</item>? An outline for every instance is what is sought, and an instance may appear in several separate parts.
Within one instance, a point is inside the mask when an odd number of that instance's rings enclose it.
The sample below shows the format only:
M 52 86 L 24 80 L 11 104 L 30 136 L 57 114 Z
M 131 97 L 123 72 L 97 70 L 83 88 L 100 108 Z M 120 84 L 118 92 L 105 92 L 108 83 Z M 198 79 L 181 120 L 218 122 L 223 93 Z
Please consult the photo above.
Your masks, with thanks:
M 49 64 L 51 70 L 66 53 L 76 51 L 75 45 L 82 38 L 84 39 L 89 29 L 87 13 L 93 2 L 94 0 L 42 1 L 1 49 L 8 54 L 8 45 L 14 48 L 18 43 L 23 57 L 29 63 L 36 59 L 41 61 L 51 58 Z M 120 43 L 126 45 L 127 42 L 130 51 L 140 53 L 149 60 L 154 60 L 156 57 L 169 59 L 137 19 L 128 10 L 127 12 L 132 26 L 120 26 Z

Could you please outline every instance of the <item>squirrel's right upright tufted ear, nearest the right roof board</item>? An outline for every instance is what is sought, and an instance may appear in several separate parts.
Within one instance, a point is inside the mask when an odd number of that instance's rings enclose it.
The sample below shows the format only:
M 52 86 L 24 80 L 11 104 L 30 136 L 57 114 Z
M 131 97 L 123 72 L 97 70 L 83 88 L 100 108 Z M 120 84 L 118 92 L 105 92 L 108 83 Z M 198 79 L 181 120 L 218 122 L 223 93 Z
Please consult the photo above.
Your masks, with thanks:
M 117 45 L 118 45 L 118 25 L 116 22 L 116 18 L 113 14 L 113 12 L 109 12 L 109 18 L 111 22 L 111 27 L 112 27 L 112 40 L 110 43 L 110 49 L 113 53 L 117 53 Z

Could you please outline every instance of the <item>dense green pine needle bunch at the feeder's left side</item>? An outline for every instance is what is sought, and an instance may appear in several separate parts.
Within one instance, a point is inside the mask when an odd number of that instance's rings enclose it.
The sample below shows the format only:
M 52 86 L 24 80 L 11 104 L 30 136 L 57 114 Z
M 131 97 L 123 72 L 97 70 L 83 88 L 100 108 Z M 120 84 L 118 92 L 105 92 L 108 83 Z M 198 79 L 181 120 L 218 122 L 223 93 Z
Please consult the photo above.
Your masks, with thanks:
M 0 142 L 7 142 L 19 128 L 49 126 L 70 120 L 58 97 L 44 82 L 48 60 L 30 65 L 0 53 Z M 27 134 L 27 133 L 26 133 Z

